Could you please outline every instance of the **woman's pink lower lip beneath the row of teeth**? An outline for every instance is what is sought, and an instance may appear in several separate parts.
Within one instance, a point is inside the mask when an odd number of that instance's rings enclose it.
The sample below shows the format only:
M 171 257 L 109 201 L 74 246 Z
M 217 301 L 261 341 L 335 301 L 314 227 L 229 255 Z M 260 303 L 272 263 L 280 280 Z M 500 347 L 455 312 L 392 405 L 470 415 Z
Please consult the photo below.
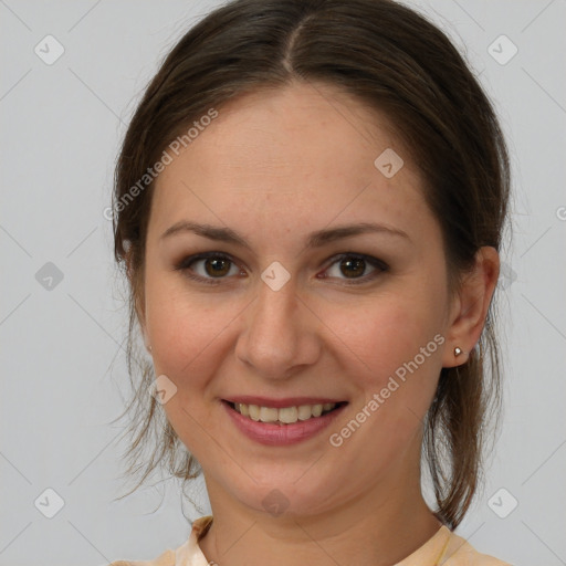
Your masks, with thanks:
M 238 429 L 248 438 L 260 444 L 283 447 L 296 444 L 322 432 L 342 412 L 347 403 L 321 417 L 297 420 L 292 424 L 255 421 L 240 415 L 227 401 L 222 401 L 222 405 Z

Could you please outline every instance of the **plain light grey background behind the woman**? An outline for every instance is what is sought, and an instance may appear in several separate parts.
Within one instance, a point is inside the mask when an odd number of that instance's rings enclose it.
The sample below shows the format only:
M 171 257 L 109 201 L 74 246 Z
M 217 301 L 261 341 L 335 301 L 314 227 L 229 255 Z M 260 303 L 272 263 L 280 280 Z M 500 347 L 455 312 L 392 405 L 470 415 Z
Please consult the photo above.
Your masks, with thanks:
M 189 533 L 172 481 L 115 501 L 127 489 L 123 424 L 112 423 L 127 394 L 126 314 L 103 210 L 139 94 L 216 4 L 0 0 L 1 566 L 153 558 Z M 485 491 L 458 533 L 515 565 L 564 565 L 566 2 L 413 6 L 481 73 L 514 172 L 514 244 L 501 281 L 506 409 Z M 65 50 L 52 65 L 34 53 L 48 34 Z M 513 48 L 494 43 L 501 34 L 518 49 L 505 64 Z M 49 280 L 48 262 L 62 281 Z M 53 518 L 49 488 L 64 500 Z M 190 516 L 208 513 L 201 482 L 193 495 Z M 511 497 L 518 506 L 509 513 Z

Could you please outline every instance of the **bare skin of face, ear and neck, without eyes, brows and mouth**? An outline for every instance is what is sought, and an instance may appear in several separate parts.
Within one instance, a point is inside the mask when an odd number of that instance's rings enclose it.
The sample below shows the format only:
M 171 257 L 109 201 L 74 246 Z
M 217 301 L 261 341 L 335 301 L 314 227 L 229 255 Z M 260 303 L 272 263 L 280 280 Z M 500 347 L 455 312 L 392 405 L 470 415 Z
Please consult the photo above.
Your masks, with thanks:
M 405 166 L 387 179 L 374 160 L 389 147 Z M 229 227 L 250 248 L 189 231 L 163 238 L 179 221 Z M 313 231 L 360 222 L 407 237 L 305 247 Z M 188 277 L 214 280 L 206 261 L 176 269 L 210 251 L 234 262 L 219 284 Z M 366 263 L 348 279 L 333 259 L 339 253 L 389 269 Z M 276 292 L 261 279 L 274 261 L 291 274 Z M 219 108 L 157 180 L 138 308 L 156 375 L 177 387 L 167 417 L 203 469 L 214 516 L 200 542 L 207 559 L 388 565 L 433 536 L 441 525 L 420 490 L 422 419 L 441 368 L 464 363 L 479 340 L 497 274 L 496 251 L 483 248 L 449 292 L 440 224 L 386 116 L 332 86 L 298 83 Z M 352 284 L 356 276 L 366 282 Z M 329 434 L 436 335 L 443 344 L 333 447 Z M 326 396 L 348 406 L 315 438 L 266 447 L 232 424 L 220 400 L 234 395 Z M 279 516 L 262 505 L 273 489 L 289 502 Z

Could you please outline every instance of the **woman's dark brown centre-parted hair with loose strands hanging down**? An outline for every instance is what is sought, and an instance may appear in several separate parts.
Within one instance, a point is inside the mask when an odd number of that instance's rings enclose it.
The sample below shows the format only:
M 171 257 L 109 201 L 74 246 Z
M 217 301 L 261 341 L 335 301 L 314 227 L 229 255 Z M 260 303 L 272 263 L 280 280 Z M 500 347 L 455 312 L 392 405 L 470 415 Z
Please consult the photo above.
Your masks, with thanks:
M 391 0 L 235 0 L 214 10 L 165 59 L 116 166 L 115 256 L 127 264 L 132 282 L 128 369 L 135 396 L 126 409 L 134 433 L 127 454 L 130 471 L 142 474 L 137 486 L 165 463 L 184 480 L 195 478 L 199 464 L 147 395 L 153 368 L 137 353 L 135 331 L 154 184 L 127 197 L 167 145 L 211 107 L 291 81 L 340 87 L 390 118 L 422 172 L 452 291 L 481 247 L 500 250 L 510 185 L 505 143 L 490 101 L 436 25 Z M 422 457 L 437 516 L 452 528 L 479 486 L 485 423 L 500 405 L 493 318 L 492 302 L 469 360 L 441 370 L 424 423 Z M 140 462 L 150 438 L 156 446 Z

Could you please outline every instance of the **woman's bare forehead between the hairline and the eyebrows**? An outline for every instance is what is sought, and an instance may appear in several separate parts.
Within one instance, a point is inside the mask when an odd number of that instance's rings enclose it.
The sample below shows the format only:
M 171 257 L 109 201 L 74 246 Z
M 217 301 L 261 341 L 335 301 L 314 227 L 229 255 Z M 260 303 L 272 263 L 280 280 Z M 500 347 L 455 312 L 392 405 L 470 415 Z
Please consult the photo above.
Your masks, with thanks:
M 187 216 L 243 230 L 333 219 L 405 229 L 426 212 L 419 171 L 387 117 L 336 88 L 293 84 L 217 111 L 157 179 L 151 217 L 164 229 Z M 379 169 L 384 153 L 402 159 L 392 177 Z

